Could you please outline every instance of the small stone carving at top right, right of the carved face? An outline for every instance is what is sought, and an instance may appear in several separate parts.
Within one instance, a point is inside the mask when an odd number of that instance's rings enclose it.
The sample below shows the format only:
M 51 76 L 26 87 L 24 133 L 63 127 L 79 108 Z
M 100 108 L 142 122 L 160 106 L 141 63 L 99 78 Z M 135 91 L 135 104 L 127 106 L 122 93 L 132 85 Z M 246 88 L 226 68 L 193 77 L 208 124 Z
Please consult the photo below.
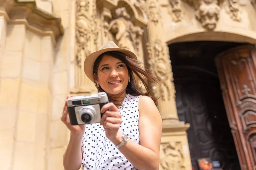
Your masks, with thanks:
M 230 14 L 231 19 L 234 21 L 241 21 L 239 0 L 228 0 L 226 11 Z

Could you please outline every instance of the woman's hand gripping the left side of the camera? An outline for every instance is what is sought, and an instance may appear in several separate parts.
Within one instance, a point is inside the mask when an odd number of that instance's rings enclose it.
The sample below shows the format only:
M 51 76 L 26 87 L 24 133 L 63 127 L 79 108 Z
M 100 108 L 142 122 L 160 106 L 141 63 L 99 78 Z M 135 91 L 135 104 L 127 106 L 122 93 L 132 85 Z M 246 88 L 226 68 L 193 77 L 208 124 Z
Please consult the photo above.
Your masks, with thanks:
M 68 110 L 67 110 L 67 99 L 70 97 L 72 97 L 72 96 L 70 95 L 70 96 L 67 96 L 67 98 L 66 98 L 63 112 L 61 115 L 61 121 L 67 126 L 67 128 L 70 130 L 71 134 L 83 135 L 84 130 L 85 130 L 85 125 L 71 125 L 70 124 L 70 117 L 69 117 Z

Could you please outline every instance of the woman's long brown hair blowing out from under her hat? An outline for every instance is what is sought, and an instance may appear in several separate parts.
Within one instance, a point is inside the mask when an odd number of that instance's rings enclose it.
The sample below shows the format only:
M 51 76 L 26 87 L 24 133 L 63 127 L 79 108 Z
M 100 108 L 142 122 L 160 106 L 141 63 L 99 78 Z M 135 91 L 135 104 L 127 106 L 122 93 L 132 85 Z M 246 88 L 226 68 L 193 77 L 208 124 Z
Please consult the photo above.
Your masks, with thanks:
M 154 101 L 155 105 L 157 105 L 157 99 L 154 99 L 154 97 L 151 95 L 151 91 L 148 85 L 148 80 L 151 82 L 157 83 L 158 79 L 153 77 L 151 74 L 149 74 L 148 69 L 141 66 L 136 59 L 132 59 L 131 57 L 128 57 L 127 55 L 118 51 L 105 52 L 101 54 L 94 62 L 94 65 L 93 65 L 94 84 L 99 92 L 104 91 L 100 86 L 97 87 L 97 83 L 96 83 L 99 62 L 102 60 L 102 57 L 104 55 L 109 55 L 116 59 L 120 59 L 122 62 L 125 63 L 130 75 L 130 82 L 128 82 L 128 85 L 126 87 L 126 93 L 131 94 L 132 96 L 139 96 L 139 95 L 149 96 Z M 138 88 L 136 87 L 135 77 L 138 77 L 143 83 L 146 90 L 145 93 L 138 90 Z M 119 103 L 116 102 L 115 99 L 111 98 L 110 96 L 109 96 L 109 101 L 113 102 L 115 105 L 120 105 Z

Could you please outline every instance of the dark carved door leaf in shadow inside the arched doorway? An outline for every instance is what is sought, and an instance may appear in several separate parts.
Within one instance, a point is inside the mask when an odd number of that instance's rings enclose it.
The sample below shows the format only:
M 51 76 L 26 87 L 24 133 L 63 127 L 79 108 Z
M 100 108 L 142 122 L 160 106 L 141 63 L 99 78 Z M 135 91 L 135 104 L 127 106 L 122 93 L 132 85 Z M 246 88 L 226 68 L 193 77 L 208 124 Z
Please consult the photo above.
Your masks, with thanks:
M 218 76 L 198 70 L 185 66 L 174 70 L 177 113 L 190 124 L 192 166 L 198 170 L 197 159 L 210 157 L 218 159 L 223 170 L 240 170 Z

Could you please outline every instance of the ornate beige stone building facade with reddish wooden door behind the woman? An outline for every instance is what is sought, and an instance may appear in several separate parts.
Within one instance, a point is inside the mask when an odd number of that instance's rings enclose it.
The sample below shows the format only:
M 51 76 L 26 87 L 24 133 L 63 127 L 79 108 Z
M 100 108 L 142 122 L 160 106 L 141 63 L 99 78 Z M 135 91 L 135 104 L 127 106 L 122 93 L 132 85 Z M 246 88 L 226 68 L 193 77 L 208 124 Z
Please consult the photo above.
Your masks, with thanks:
M 106 40 L 134 51 L 160 79 L 151 83 L 163 119 L 160 170 L 196 169 L 195 159 L 200 158 L 193 155 L 187 136 L 196 125 L 177 111 L 171 50 L 178 45 L 183 49 L 179 54 L 193 57 L 198 50 L 185 48 L 186 42 L 195 42 L 195 49 L 200 45 L 196 42 L 212 42 L 207 46 L 212 50 L 221 42 L 237 43 L 216 54 L 212 64 L 239 166 L 255 170 L 255 1 L 0 0 L 1 170 L 63 169 L 69 140 L 60 120 L 64 99 L 96 93 L 84 75 L 83 61 Z M 212 148 L 202 155 L 214 157 Z

